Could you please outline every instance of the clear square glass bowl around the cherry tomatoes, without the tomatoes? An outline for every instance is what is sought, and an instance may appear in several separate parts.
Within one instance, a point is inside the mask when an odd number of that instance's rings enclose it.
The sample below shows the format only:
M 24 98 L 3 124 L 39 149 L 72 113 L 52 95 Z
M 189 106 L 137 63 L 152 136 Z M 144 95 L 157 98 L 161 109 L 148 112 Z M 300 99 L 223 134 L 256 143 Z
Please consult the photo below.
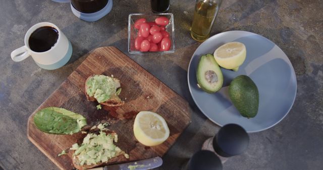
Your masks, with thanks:
M 166 31 L 170 33 L 171 48 L 169 51 L 147 51 L 141 52 L 135 48 L 135 39 L 137 37 L 138 30 L 134 27 L 135 21 L 141 18 L 145 18 L 147 22 L 154 22 L 158 17 L 167 17 L 169 23 L 167 24 Z M 128 23 L 128 52 L 130 54 L 169 54 L 175 52 L 175 29 L 174 29 L 174 16 L 171 13 L 162 14 L 130 14 Z

